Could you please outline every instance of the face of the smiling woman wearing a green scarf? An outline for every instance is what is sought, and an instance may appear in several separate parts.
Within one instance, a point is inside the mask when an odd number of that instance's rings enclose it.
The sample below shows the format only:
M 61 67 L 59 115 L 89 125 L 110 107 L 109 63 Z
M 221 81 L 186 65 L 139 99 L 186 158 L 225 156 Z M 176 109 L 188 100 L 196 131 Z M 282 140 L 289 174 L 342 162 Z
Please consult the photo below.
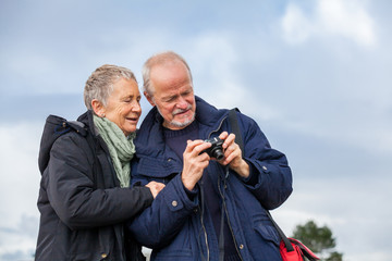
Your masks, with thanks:
M 113 85 L 113 90 L 103 107 L 105 116 L 115 123 L 128 136 L 136 130 L 142 114 L 140 92 L 133 79 L 121 78 Z

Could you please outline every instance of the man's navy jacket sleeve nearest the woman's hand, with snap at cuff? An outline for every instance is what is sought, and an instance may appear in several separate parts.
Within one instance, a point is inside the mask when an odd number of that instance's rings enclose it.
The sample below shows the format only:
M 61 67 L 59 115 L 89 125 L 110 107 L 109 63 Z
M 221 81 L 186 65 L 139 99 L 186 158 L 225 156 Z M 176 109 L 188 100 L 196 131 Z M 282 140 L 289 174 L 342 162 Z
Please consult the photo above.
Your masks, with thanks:
M 193 200 L 188 198 L 179 174 L 158 194 L 149 208 L 127 223 L 127 227 L 142 245 L 161 248 L 183 228 L 197 206 L 197 197 Z

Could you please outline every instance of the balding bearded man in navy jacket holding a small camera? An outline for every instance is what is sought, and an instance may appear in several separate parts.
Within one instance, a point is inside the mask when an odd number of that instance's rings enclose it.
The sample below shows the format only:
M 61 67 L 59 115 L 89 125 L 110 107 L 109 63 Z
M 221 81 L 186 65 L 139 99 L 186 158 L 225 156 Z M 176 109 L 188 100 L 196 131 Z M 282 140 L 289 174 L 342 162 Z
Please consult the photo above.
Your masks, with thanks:
M 237 112 L 242 151 L 229 111 L 194 95 L 191 70 L 179 54 L 151 57 L 143 76 L 154 108 L 135 139 L 132 181 L 157 181 L 166 188 L 128 228 L 152 248 L 151 260 L 281 260 L 280 238 L 266 211 L 292 192 L 285 156 Z M 219 161 L 205 141 L 213 137 L 222 140 Z

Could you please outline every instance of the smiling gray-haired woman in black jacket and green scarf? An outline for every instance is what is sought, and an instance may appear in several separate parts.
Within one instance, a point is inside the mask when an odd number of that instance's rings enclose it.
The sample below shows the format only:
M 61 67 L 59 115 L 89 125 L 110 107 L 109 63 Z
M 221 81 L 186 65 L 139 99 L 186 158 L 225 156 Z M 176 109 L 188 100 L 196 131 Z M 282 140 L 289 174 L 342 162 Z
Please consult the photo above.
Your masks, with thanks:
M 142 113 L 136 78 L 127 69 L 103 65 L 87 79 L 84 99 L 88 110 L 78 122 L 87 135 L 68 132 L 52 146 L 41 140 L 35 259 L 145 260 L 123 222 L 148 207 L 164 185 L 128 187 Z

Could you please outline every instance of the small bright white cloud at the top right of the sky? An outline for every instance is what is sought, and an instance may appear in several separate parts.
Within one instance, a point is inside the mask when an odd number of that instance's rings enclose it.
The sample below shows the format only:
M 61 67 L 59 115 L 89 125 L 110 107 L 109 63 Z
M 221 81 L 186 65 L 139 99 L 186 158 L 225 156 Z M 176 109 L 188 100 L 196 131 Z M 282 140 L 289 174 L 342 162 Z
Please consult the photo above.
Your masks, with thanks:
M 313 13 L 306 14 L 297 4 L 290 3 L 281 21 L 287 42 L 302 44 L 311 37 L 343 37 L 358 46 L 377 44 L 375 22 L 359 0 L 320 0 Z

